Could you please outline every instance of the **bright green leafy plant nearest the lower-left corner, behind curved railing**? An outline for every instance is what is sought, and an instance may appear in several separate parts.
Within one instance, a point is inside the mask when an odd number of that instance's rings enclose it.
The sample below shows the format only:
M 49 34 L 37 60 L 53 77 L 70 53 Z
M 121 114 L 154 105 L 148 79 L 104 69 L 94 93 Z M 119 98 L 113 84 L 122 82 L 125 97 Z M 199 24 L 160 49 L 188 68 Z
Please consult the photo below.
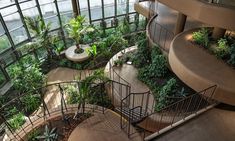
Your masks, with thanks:
M 16 109 L 12 109 L 10 112 L 16 112 Z M 22 113 L 17 113 L 11 117 L 11 119 L 8 120 L 8 123 L 10 124 L 11 128 L 13 130 L 19 129 L 24 123 L 25 123 L 25 118 Z

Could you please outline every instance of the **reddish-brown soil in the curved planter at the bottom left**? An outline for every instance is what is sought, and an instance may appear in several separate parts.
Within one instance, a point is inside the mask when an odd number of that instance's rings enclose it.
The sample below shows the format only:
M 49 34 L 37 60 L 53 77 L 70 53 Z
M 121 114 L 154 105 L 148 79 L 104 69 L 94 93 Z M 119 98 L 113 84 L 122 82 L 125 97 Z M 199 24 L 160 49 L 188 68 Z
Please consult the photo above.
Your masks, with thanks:
M 51 119 L 47 121 L 45 124 L 39 126 L 38 128 L 31 131 L 25 138 L 26 141 L 31 141 L 28 137 L 30 134 L 33 134 L 35 130 L 38 132 L 38 134 L 41 136 L 44 133 L 45 126 L 47 125 L 49 130 L 52 130 L 53 128 L 56 128 L 57 134 L 58 134 L 58 141 L 68 141 L 68 138 L 72 131 L 84 120 L 90 118 L 92 114 L 82 114 L 79 116 L 78 119 L 73 119 L 73 114 L 66 115 L 67 120 L 63 120 L 62 117 L 56 117 L 54 119 Z M 43 141 L 43 140 L 36 140 L 36 141 Z

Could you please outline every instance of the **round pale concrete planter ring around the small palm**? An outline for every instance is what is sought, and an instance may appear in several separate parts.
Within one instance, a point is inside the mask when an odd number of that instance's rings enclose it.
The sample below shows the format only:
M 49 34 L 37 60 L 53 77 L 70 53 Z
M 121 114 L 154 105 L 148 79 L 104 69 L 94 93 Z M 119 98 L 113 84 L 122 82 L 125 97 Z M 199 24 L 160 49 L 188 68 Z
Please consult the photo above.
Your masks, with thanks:
M 65 51 L 65 56 L 67 59 L 74 62 L 82 62 L 90 58 L 89 54 L 86 52 L 86 49 L 89 49 L 88 45 L 80 45 L 80 47 L 84 50 L 82 53 L 75 53 L 76 46 L 71 46 Z

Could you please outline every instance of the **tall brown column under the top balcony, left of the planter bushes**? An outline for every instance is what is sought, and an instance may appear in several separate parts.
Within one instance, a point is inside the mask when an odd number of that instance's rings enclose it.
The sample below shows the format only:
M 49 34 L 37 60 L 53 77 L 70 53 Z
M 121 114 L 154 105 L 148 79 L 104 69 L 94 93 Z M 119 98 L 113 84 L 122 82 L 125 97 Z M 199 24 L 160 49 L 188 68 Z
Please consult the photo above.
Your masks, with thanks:
M 175 26 L 175 32 L 174 32 L 175 35 L 184 31 L 186 19 L 187 19 L 186 15 L 184 15 L 180 12 L 178 13 L 177 22 L 176 22 L 176 26 Z

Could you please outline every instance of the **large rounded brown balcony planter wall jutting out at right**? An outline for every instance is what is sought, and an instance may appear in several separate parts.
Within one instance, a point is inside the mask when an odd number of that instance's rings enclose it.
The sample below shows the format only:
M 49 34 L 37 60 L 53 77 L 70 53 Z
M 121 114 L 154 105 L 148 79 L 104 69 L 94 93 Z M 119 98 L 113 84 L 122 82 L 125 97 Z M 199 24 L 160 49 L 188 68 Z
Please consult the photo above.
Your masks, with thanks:
M 171 42 L 172 71 L 195 91 L 217 85 L 213 98 L 235 105 L 235 70 L 190 41 L 196 30 L 185 31 Z

